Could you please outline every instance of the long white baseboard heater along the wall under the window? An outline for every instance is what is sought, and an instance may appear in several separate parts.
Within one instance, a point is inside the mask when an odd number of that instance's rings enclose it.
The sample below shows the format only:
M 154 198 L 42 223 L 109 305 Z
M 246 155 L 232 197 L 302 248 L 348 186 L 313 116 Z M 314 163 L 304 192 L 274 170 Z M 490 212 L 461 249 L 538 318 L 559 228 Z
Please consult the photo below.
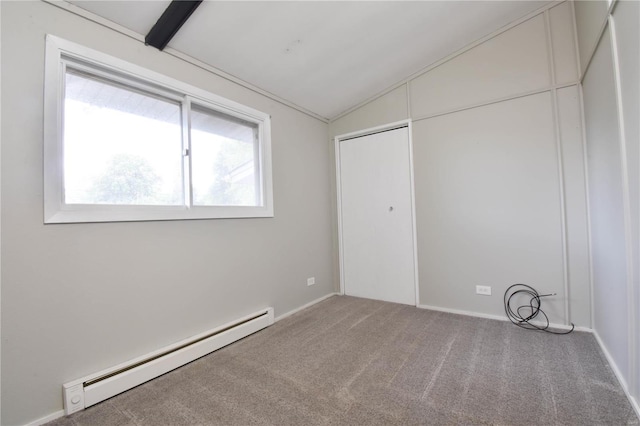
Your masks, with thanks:
M 168 373 L 273 324 L 265 308 L 142 357 L 62 385 L 66 415 Z

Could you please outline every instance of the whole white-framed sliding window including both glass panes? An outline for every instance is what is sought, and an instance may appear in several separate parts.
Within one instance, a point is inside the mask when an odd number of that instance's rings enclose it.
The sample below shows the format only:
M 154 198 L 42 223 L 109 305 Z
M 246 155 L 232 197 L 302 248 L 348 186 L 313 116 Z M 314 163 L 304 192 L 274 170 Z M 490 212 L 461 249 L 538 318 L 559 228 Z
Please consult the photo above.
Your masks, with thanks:
M 45 223 L 272 217 L 269 116 L 47 36 Z

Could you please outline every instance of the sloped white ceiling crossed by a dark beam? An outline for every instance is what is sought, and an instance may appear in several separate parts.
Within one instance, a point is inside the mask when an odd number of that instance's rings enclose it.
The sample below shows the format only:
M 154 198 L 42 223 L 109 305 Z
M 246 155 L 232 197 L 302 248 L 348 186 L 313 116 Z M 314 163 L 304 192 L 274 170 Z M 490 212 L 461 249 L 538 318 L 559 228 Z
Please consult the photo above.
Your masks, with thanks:
M 170 3 L 70 2 L 142 35 Z M 169 47 L 334 118 L 546 3 L 205 1 Z

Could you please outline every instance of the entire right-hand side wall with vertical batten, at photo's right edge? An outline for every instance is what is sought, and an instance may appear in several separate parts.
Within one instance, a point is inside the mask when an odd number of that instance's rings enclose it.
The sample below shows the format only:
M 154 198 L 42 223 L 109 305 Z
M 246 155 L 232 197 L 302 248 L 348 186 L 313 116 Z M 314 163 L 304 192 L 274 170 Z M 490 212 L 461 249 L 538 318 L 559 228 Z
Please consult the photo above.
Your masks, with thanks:
M 594 330 L 640 412 L 640 3 L 576 3 L 583 74 Z

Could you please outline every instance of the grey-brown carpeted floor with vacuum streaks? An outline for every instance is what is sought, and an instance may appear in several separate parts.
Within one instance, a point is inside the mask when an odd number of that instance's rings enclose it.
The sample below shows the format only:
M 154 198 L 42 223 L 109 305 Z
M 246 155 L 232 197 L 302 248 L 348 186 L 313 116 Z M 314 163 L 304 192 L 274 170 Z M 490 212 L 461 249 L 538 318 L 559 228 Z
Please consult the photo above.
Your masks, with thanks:
M 336 296 L 49 425 L 624 425 L 594 337 Z

